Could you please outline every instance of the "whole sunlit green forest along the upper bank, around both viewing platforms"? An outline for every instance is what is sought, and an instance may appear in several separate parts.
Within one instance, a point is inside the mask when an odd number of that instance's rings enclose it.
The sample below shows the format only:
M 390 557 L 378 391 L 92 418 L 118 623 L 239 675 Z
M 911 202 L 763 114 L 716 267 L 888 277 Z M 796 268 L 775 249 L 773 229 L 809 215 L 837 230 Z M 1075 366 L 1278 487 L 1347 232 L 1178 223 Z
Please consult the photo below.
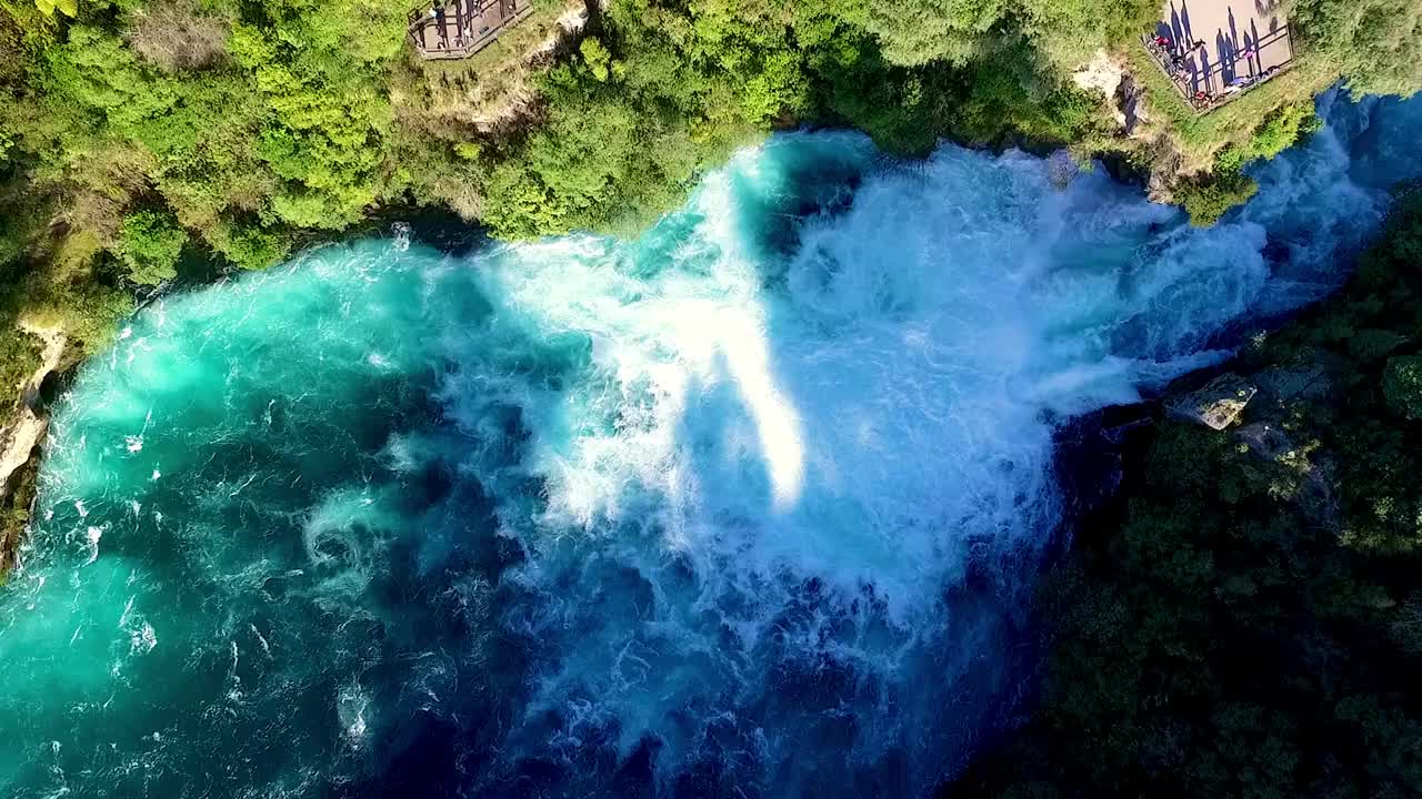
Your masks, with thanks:
M 262 269 L 381 209 L 447 209 L 501 237 L 633 230 L 775 128 L 855 127 L 903 155 L 948 138 L 1146 158 L 1068 80 L 1149 27 L 1146 0 L 614 0 L 589 3 L 584 28 L 532 65 L 455 75 L 412 55 L 407 10 L 0 0 L 0 324 L 60 324 L 94 351 L 179 264 Z M 1276 125 L 1256 146 L 1258 118 L 1340 75 L 1357 91 L 1422 82 L 1412 3 L 1293 14 L 1311 54 L 1293 94 L 1251 101 L 1243 122 L 1182 121 L 1190 148 L 1277 152 L 1291 136 Z M 528 74 L 502 107 L 471 100 L 510 68 Z M 1247 196 L 1240 162 L 1183 202 L 1207 220 Z M 4 337 L 4 380 L 34 347 Z

